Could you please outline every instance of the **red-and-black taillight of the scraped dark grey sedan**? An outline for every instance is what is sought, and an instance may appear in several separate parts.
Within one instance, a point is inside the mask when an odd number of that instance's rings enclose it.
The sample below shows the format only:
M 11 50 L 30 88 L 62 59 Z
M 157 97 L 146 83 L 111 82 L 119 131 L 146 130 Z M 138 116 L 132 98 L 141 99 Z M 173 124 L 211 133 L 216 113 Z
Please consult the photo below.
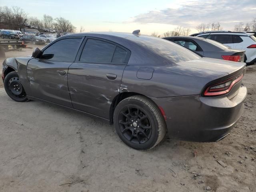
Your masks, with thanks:
M 204 96 L 221 96 L 230 92 L 233 86 L 242 80 L 243 74 L 239 74 L 222 82 L 212 84 L 204 91 Z

